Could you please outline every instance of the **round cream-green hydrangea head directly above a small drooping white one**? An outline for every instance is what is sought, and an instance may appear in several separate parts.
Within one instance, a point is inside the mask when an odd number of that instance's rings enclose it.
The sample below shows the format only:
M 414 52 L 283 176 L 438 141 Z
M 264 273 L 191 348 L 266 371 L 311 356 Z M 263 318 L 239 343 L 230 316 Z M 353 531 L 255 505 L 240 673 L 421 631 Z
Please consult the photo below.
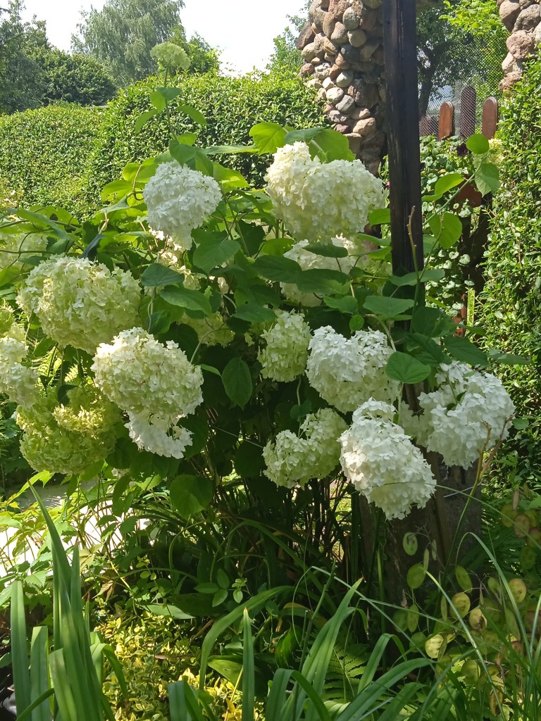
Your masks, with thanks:
M 165 345 L 142 328 L 102 343 L 92 365 L 102 393 L 130 413 L 178 418 L 203 402 L 201 368 L 193 366 L 175 342 Z

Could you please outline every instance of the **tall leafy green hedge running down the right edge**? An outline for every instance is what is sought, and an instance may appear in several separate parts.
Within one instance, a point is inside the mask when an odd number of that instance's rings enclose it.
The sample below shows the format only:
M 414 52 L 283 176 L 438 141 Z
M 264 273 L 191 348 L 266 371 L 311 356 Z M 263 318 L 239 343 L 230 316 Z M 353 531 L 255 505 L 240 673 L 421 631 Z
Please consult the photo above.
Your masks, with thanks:
M 541 480 L 541 61 L 502 108 L 502 188 L 486 257 L 482 324 L 489 345 L 529 358 L 501 373 L 529 430 L 511 447 L 522 478 Z

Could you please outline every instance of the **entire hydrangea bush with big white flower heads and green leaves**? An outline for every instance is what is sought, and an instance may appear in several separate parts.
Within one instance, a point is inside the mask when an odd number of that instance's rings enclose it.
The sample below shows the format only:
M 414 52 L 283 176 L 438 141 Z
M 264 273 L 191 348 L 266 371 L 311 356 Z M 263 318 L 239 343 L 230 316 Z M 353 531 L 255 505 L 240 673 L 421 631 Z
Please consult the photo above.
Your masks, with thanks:
M 173 136 L 84 222 L 9 211 L 0 391 L 17 404 L 22 454 L 51 474 L 175 482 L 186 516 L 233 472 L 293 494 L 351 485 L 403 518 L 436 488 L 426 453 L 475 464 L 509 433 L 513 404 L 452 309 L 423 303 L 441 271 L 393 273 L 389 239 L 366 234 L 388 222 L 384 185 L 346 138 L 274 123 L 251 134 L 252 146 L 206 150 Z M 269 154 L 264 190 L 216 162 L 240 151 Z M 461 187 L 456 173 L 440 180 L 426 202 Z M 432 255 L 457 242 L 452 213 L 427 222 Z

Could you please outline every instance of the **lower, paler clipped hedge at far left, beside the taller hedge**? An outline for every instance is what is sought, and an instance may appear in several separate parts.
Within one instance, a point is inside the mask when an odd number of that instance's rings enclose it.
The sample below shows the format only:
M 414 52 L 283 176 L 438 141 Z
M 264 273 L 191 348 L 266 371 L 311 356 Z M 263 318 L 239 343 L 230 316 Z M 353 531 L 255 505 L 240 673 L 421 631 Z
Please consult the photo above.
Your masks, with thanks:
M 0 115 L 0 179 L 25 205 L 87 206 L 85 173 L 105 110 L 50 105 Z

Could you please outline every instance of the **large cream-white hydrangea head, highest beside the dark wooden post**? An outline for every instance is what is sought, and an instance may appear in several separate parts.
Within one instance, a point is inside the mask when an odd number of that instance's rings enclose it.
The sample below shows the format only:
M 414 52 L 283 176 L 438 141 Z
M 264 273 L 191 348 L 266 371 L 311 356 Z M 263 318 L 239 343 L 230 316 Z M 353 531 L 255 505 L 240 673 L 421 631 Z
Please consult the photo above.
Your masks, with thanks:
M 276 215 L 293 236 L 312 241 L 362 231 L 371 208 L 384 204 L 382 181 L 360 160 L 322 163 L 304 143 L 279 149 L 266 180 Z

